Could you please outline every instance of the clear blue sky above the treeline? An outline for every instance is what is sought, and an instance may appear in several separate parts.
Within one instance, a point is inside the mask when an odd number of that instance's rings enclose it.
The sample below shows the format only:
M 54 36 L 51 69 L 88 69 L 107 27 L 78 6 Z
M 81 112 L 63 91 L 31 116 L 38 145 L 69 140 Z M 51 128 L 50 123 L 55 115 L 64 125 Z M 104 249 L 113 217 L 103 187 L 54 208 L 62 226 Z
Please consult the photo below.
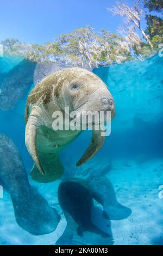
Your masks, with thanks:
M 119 0 L 124 2 L 125 0 Z M 121 17 L 106 9 L 116 0 L 0 0 L 0 40 L 17 38 L 43 44 L 90 25 L 116 32 Z M 125 2 L 133 4 L 133 0 Z M 142 21 L 143 27 L 145 21 Z

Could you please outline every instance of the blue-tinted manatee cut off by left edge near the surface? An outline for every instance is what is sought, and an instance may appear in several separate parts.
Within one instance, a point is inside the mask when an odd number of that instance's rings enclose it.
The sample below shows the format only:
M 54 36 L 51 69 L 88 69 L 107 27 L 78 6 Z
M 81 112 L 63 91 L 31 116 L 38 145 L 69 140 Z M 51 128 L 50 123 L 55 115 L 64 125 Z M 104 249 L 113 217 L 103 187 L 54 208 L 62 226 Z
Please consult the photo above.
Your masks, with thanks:
M 36 63 L 22 60 L 14 68 L 3 74 L 0 80 L 0 110 L 7 111 L 17 104 L 33 84 Z

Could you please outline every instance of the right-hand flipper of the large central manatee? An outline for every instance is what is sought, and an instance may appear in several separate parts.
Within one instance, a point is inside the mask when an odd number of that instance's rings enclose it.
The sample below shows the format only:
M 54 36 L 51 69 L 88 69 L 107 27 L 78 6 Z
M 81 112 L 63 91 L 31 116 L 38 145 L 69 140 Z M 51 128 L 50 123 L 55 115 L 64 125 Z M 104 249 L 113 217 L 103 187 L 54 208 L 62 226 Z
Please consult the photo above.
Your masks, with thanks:
M 101 136 L 101 131 L 92 131 L 92 139 L 89 147 L 77 162 L 77 166 L 81 166 L 83 163 L 86 163 L 90 160 L 103 146 L 105 137 Z

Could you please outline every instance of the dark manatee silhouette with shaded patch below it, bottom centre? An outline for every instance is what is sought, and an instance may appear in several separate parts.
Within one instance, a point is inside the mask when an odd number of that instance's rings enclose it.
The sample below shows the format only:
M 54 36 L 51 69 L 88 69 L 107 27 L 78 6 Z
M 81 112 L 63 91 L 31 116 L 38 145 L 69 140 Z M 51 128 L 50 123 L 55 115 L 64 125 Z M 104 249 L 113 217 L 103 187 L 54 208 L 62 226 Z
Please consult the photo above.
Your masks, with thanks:
M 112 242 L 111 236 L 92 222 L 93 198 L 85 180 L 73 178 L 62 181 L 58 200 L 67 227 L 57 245 L 108 245 Z

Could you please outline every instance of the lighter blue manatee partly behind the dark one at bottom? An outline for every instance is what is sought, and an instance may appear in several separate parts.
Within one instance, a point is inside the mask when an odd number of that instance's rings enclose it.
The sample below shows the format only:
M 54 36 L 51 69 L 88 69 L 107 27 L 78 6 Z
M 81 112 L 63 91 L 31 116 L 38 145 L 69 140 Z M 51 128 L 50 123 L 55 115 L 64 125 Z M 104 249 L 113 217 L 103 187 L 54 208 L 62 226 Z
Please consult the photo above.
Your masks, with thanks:
M 105 176 L 90 176 L 87 180 L 93 197 L 102 204 L 103 216 L 109 220 L 123 220 L 131 209 L 118 203 L 111 181 Z

